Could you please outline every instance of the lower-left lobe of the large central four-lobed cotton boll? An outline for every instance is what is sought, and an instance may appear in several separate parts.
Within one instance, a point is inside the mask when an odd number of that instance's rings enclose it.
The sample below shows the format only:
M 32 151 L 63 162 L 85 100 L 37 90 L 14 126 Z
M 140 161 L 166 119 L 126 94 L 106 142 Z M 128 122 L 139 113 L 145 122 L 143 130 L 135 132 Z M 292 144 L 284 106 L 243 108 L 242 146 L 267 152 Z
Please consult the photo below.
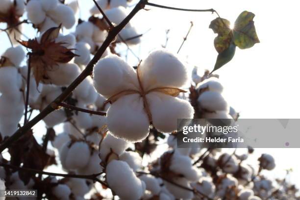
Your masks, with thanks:
M 107 125 L 115 137 L 130 142 L 144 140 L 149 134 L 150 124 L 143 99 L 138 94 L 133 94 L 114 102 L 107 111 Z

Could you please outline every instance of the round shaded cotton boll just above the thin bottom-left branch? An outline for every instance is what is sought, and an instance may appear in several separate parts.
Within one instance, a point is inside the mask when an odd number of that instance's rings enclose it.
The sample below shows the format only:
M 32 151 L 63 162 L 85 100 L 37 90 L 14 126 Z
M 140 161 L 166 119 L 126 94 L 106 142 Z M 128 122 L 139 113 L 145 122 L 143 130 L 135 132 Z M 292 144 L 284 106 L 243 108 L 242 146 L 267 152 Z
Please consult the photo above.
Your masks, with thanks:
M 59 151 L 59 158 L 65 169 L 85 167 L 90 159 L 90 149 L 85 142 L 65 143 Z

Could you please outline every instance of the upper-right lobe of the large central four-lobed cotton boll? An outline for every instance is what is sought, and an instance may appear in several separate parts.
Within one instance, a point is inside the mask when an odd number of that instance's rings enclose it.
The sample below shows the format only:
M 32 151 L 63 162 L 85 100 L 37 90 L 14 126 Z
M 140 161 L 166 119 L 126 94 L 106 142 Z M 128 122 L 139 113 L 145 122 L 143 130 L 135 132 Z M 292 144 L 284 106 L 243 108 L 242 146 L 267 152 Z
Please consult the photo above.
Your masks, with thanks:
M 142 61 L 139 71 L 145 90 L 156 87 L 182 87 L 188 79 L 185 66 L 174 54 L 166 50 L 152 51 Z

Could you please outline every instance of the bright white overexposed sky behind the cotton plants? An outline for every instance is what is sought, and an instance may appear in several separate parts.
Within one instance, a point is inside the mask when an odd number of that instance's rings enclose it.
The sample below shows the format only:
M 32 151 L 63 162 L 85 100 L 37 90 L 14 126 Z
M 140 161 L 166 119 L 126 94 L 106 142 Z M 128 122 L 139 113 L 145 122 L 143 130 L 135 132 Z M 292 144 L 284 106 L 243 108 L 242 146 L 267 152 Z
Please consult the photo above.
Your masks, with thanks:
M 137 2 L 132 1 L 132 4 Z M 174 7 L 208 9 L 214 8 L 221 17 L 232 24 L 244 10 L 253 12 L 256 31 L 260 44 L 249 50 L 237 48 L 231 62 L 216 73 L 220 75 L 225 87 L 225 99 L 237 111 L 241 118 L 300 118 L 300 85 L 299 78 L 299 1 L 263 1 L 263 0 L 150 0 Z M 88 17 L 88 9 L 93 6 L 92 0 L 79 0 L 80 15 L 83 20 Z M 194 27 L 179 56 L 190 64 L 190 68 L 212 70 L 217 52 L 213 47 L 216 36 L 208 28 L 216 14 L 195 13 L 151 8 L 139 12 L 132 23 L 140 33 L 147 32 L 142 44 L 132 49 L 140 58 L 145 58 L 149 51 L 165 43 L 165 31 L 170 29 L 167 49 L 176 53 L 183 37 L 188 31 L 190 21 Z M 34 36 L 34 32 L 29 32 Z M 4 33 L 0 33 L 0 53 L 9 47 Z M 128 55 L 128 62 L 135 65 L 137 60 Z M 284 136 L 283 136 L 284 137 Z M 272 138 L 270 138 L 272 140 Z M 261 149 L 257 152 L 268 152 L 275 155 L 277 168 L 275 173 L 282 177 L 284 170 L 293 168 L 290 177 L 300 185 L 299 152 L 300 149 Z

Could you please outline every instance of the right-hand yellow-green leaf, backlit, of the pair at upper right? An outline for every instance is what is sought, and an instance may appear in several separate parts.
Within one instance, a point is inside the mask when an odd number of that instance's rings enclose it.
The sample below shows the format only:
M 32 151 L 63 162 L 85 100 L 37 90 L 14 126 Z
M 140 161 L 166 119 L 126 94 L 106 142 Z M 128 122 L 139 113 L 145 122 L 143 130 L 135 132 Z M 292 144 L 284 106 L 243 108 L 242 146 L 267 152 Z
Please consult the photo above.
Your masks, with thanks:
M 240 49 L 248 49 L 259 43 L 253 22 L 254 16 L 253 13 L 244 11 L 234 23 L 233 42 Z

